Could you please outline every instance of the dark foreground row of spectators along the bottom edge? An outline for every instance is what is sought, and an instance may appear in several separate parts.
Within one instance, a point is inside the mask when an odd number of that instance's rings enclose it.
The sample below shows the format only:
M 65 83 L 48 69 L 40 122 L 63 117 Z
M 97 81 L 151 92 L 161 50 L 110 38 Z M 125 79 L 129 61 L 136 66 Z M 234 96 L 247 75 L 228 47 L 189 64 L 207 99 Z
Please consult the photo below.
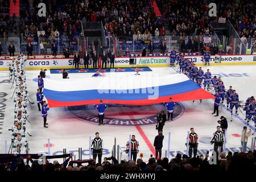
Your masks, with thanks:
M 0 164 L 0 171 L 112 171 L 112 172 L 152 172 L 152 171 L 171 171 L 171 172 L 211 172 L 216 174 L 217 172 L 251 172 L 255 171 L 255 159 L 256 151 L 247 153 L 221 152 L 220 158 L 216 160 L 216 164 L 209 162 L 210 156 L 200 155 L 200 158 L 188 158 L 187 155 L 177 154 L 175 158 L 169 160 L 168 158 L 162 158 L 156 160 L 150 158 L 148 160 L 137 159 L 134 160 L 121 160 L 118 163 L 117 159 L 113 156 L 110 158 L 104 158 L 104 162 L 95 163 L 94 160 L 90 160 L 89 163 L 79 163 L 69 161 L 72 155 L 69 156 L 63 164 L 60 164 L 57 160 L 53 163 L 46 161 L 46 164 L 40 164 L 39 160 L 32 160 L 28 155 L 27 161 L 24 162 L 23 158 L 16 158 L 15 162 Z M 31 164 L 30 164 L 31 163 Z M 28 165 L 30 164 L 30 165 Z

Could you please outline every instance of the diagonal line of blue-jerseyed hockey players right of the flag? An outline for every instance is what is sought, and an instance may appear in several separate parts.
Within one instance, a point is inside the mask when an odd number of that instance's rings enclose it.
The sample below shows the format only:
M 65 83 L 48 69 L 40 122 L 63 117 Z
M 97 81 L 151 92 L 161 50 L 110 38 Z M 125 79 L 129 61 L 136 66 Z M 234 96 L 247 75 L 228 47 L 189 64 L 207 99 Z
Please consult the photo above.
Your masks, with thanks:
M 205 51 L 204 60 L 205 62 L 209 62 L 208 51 Z M 219 52 L 220 55 L 223 52 Z M 197 68 L 194 63 L 192 63 L 189 59 L 184 59 L 184 56 L 180 56 L 176 53 L 175 50 L 171 51 L 171 63 L 172 65 L 176 62 L 177 72 L 184 73 L 184 75 L 188 76 L 192 81 L 195 81 L 198 86 L 202 86 L 204 84 L 204 89 L 210 91 L 216 97 L 214 105 L 220 106 L 224 104 L 224 100 L 226 99 L 226 106 L 230 113 L 233 114 L 233 108 L 236 108 L 236 114 L 238 114 L 238 108 L 240 107 L 239 96 L 236 93 L 236 90 L 232 89 L 232 86 L 229 87 L 228 90 L 225 90 L 224 82 L 221 80 L 221 77 L 217 78 L 214 76 L 212 78 L 212 73 L 210 73 L 209 69 L 207 72 L 204 72 L 203 69 Z M 204 81 L 204 82 L 203 82 Z M 201 101 L 200 101 L 201 102 Z M 255 99 L 254 97 L 250 97 L 246 101 L 246 105 L 244 109 L 246 111 L 247 125 L 251 118 L 254 118 L 256 113 L 255 111 Z M 218 112 L 217 112 L 218 115 Z M 216 116 L 217 116 L 216 115 Z M 255 123 L 256 125 L 256 123 Z

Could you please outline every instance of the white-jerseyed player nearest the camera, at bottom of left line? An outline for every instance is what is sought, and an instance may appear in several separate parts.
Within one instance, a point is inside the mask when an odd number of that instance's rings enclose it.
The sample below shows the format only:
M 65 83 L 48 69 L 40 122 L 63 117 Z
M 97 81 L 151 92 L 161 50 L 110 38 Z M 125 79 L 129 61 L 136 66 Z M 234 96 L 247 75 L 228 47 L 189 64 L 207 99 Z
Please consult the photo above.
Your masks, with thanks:
M 13 142 L 14 154 L 26 154 L 28 152 L 28 144 L 26 138 L 22 137 L 19 133 Z

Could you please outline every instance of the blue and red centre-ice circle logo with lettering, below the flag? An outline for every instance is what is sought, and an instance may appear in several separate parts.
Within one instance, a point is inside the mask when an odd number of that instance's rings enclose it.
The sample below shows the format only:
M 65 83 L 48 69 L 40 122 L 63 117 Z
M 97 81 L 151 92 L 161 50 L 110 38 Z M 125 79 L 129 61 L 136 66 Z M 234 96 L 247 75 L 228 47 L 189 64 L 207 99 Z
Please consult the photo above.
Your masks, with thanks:
M 166 110 L 163 104 L 146 106 L 108 104 L 104 122 L 109 126 L 156 125 L 156 114 L 163 109 Z M 98 124 L 97 110 L 93 105 L 69 106 L 65 107 L 65 110 L 82 121 Z M 183 113 L 183 105 L 177 103 L 174 107 L 174 119 L 179 118 Z

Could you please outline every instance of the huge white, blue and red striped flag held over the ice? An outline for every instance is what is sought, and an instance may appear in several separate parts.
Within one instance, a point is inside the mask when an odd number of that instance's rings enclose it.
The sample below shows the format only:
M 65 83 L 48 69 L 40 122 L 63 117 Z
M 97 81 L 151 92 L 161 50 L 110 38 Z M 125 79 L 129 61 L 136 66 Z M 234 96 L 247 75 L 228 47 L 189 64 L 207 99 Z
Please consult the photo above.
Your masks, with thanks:
M 183 74 L 130 75 L 44 80 L 49 107 L 98 104 L 151 105 L 214 98 Z

